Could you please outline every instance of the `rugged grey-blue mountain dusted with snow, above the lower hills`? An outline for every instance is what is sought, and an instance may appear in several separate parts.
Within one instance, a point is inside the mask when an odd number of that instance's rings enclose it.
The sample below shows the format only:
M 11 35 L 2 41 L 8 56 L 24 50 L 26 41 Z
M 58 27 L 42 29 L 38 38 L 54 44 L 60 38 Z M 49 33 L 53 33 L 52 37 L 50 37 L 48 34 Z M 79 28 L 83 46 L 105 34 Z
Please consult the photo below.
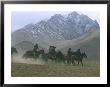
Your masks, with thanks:
M 28 24 L 12 33 L 12 46 L 22 41 L 49 44 L 55 41 L 73 40 L 100 29 L 96 20 L 86 15 L 71 12 L 67 16 L 55 14 L 48 20 Z

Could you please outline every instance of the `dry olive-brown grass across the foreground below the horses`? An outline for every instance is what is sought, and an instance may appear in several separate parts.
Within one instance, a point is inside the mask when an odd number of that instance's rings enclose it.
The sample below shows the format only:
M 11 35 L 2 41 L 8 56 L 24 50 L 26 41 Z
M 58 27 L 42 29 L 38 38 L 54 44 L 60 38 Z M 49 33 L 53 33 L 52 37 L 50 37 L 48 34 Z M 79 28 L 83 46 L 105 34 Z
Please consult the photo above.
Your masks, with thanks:
M 81 65 L 38 65 L 12 63 L 13 77 L 99 77 L 99 60 L 84 60 Z

